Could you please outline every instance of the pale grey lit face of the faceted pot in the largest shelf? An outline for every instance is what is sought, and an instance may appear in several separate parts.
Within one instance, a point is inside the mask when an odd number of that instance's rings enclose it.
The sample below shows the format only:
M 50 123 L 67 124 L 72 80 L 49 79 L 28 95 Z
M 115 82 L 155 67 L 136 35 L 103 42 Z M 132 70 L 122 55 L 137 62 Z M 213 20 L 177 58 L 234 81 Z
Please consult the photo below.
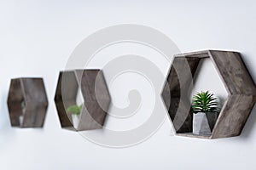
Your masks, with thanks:
M 211 135 L 206 113 L 194 113 L 193 115 L 193 133 L 197 135 Z

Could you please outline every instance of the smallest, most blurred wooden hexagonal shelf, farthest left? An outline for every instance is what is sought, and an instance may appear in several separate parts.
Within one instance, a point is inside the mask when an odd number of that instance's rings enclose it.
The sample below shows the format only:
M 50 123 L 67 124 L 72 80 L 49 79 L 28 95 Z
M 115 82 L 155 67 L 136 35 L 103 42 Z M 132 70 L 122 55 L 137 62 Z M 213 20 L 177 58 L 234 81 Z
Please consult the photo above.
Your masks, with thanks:
M 11 79 L 7 104 L 12 127 L 43 127 L 48 107 L 43 78 Z

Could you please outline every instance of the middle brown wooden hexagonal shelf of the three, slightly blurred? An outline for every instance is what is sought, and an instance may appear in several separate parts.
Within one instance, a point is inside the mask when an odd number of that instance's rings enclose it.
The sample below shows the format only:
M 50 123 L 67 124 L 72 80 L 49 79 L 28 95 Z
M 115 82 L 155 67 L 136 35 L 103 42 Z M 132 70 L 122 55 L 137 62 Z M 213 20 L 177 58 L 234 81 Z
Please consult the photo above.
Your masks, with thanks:
M 84 102 L 79 126 L 73 126 L 72 114 L 67 108 L 76 105 L 79 88 Z M 55 106 L 61 127 L 73 131 L 102 128 L 110 105 L 108 86 L 101 70 L 61 71 L 55 92 Z

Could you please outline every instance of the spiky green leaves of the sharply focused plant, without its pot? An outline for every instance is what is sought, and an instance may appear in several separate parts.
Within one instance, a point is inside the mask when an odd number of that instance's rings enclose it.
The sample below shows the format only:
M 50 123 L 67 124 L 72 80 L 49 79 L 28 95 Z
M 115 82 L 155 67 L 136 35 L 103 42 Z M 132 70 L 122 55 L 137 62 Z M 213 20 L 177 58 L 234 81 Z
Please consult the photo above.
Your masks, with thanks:
M 198 112 L 218 112 L 218 102 L 216 101 L 217 98 L 214 97 L 213 94 L 207 92 L 201 92 L 195 94 L 192 99 L 192 110 L 194 113 Z

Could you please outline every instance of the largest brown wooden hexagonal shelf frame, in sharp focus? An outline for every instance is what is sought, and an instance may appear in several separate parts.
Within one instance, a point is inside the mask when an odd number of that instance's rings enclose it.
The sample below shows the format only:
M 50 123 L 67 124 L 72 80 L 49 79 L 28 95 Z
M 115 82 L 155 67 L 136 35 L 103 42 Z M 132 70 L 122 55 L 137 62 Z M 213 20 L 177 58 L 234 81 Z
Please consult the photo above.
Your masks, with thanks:
M 197 67 L 204 58 L 212 59 L 229 94 L 210 136 L 192 133 L 193 112 L 189 99 Z M 241 54 L 206 50 L 175 55 L 161 95 L 177 135 L 218 139 L 241 134 L 256 101 L 256 88 Z

